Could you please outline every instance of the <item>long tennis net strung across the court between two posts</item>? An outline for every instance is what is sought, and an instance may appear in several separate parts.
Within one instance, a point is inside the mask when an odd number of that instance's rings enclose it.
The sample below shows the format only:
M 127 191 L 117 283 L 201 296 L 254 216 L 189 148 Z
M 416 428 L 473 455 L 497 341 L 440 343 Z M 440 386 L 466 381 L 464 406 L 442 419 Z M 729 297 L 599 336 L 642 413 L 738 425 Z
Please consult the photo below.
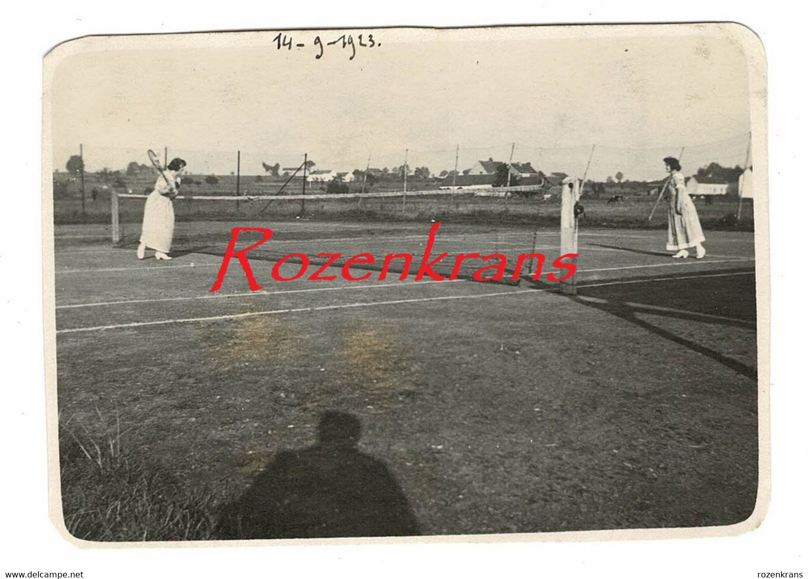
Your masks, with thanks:
M 112 241 L 137 245 L 146 195 L 116 195 L 112 202 Z M 273 237 L 249 254 L 250 260 L 301 262 L 314 266 L 331 262 L 342 266 L 356 254 L 376 259 L 351 267 L 403 275 L 415 274 L 427 247 L 433 224 L 440 223 L 431 256 L 448 256 L 433 271 L 446 277 L 474 279 L 484 266 L 498 263 L 482 257 L 507 258 L 503 281 L 514 281 L 520 254 L 540 252 L 549 261 L 558 257 L 560 203 L 545 190 L 532 186 L 498 187 L 483 191 L 392 191 L 345 195 L 269 195 L 259 197 L 179 196 L 174 202 L 175 238 L 172 254 L 224 255 L 236 227 L 271 229 Z M 541 224 L 541 227 L 538 225 Z M 261 235 L 243 232 L 238 248 L 259 241 Z M 323 255 L 321 255 L 323 254 Z M 387 254 L 410 254 L 389 260 Z M 459 254 L 479 254 L 457 262 Z M 521 275 L 534 264 L 524 261 Z M 495 270 L 483 274 L 495 275 Z M 516 276 L 518 277 L 518 275 Z

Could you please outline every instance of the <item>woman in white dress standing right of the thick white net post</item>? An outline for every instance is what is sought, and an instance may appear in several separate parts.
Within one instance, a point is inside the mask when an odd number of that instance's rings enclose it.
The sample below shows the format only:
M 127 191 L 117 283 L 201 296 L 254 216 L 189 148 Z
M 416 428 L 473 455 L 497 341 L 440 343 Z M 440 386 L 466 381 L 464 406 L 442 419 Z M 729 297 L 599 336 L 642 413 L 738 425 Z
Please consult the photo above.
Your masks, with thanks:
M 687 258 L 689 248 L 696 248 L 696 259 L 703 258 L 707 252 L 703 245 L 705 235 L 701 231 L 696 206 L 685 190 L 682 166 L 675 157 L 665 157 L 665 170 L 671 174 L 668 178 L 665 194 L 667 195 L 667 245 L 668 251 L 677 251 L 674 258 Z

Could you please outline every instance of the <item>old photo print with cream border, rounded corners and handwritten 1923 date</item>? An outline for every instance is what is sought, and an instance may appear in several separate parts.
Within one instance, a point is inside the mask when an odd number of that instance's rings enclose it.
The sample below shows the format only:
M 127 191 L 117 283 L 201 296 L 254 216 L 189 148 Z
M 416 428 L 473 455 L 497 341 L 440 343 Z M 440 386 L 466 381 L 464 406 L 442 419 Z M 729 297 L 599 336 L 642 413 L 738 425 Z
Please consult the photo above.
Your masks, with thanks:
M 53 48 L 54 524 L 119 544 L 751 531 L 766 87 L 733 23 Z

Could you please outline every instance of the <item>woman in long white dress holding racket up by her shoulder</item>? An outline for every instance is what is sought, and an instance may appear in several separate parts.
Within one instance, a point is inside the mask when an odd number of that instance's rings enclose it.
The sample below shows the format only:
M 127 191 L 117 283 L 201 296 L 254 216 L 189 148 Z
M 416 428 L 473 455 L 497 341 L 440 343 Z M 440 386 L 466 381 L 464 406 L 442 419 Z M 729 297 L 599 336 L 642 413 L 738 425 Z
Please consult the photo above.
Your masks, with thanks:
M 179 176 L 187 163 L 183 159 L 172 159 L 163 175 L 154 183 L 154 191 L 146 199 L 143 210 L 141 245 L 137 246 L 137 258 L 145 258 L 147 249 L 154 250 L 154 257 L 170 259 L 171 240 L 174 237 L 174 199 L 179 189 Z

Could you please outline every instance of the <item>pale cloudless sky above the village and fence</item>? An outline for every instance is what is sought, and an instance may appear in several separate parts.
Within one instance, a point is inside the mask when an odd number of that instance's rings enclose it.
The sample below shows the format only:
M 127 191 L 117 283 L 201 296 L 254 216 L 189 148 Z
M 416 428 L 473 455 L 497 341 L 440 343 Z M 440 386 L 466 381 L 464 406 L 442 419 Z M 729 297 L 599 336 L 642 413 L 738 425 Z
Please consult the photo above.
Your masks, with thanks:
M 716 25 L 371 29 L 91 37 L 46 60 L 53 166 L 183 157 L 196 174 L 494 158 L 603 179 L 746 162 L 747 54 Z M 351 35 L 356 56 L 339 40 Z M 366 47 L 359 46 L 363 35 Z M 372 34 L 374 46 L 369 46 Z M 315 40 L 322 41 L 322 57 Z M 297 44 L 305 44 L 297 47 Z M 49 67 L 49 68 L 48 68 Z M 46 132 L 46 137 L 48 132 Z M 595 145 L 594 152 L 592 145 Z

